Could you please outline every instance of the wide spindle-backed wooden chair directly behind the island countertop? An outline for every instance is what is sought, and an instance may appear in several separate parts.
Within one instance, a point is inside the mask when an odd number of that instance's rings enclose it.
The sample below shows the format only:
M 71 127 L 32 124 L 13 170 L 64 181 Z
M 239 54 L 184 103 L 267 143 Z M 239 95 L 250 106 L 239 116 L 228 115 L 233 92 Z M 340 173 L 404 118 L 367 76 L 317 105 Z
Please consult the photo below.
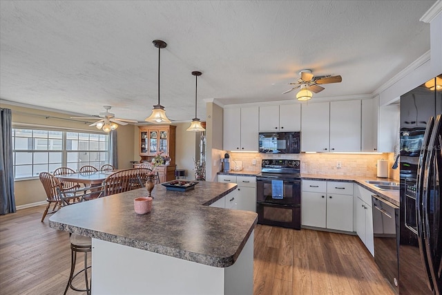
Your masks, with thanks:
M 104 196 L 140 189 L 142 184 L 139 178 L 147 179 L 148 173 L 151 172 L 151 169 L 135 168 L 112 173 L 104 180 Z

